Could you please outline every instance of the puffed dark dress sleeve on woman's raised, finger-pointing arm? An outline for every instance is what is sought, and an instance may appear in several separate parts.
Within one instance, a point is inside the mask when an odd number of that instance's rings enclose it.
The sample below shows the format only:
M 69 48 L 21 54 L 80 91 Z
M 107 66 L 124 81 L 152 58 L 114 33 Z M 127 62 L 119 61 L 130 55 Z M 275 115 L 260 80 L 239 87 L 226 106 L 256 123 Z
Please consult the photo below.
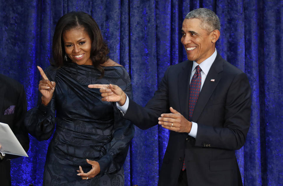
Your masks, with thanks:
M 47 67 L 44 72 L 50 81 L 55 81 L 56 71 L 53 67 Z M 30 109 L 26 114 L 24 124 L 29 134 L 36 137 L 37 140 L 49 139 L 55 128 L 55 91 L 47 106 L 41 104 L 40 94 L 37 107 Z

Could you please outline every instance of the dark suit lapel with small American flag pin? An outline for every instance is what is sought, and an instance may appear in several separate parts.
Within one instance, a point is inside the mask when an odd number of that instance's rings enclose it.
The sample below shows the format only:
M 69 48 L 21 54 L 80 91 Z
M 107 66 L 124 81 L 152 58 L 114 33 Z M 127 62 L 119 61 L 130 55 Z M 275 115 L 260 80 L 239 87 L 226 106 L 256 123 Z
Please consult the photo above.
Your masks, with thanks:
M 219 83 L 221 76 L 219 72 L 223 71 L 223 58 L 217 53 L 217 56 L 208 71 L 208 74 L 205 78 L 205 82 L 203 87 L 200 91 L 200 95 L 198 97 L 198 102 L 195 105 L 194 112 L 192 113 L 192 121 L 197 122 L 200 114 L 202 113 L 208 99 L 210 98 L 211 94 L 213 93 L 215 87 Z M 211 81 L 214 79 L 214 81 Z

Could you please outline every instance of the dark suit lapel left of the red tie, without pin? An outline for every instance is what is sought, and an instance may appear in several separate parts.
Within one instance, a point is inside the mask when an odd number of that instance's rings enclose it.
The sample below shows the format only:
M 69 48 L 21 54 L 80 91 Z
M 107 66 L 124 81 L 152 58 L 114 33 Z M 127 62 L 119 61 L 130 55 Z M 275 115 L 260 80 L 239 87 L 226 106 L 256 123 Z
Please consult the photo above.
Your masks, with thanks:
M 185 118 L 189 117 L 189 89 L 190 89 L 190 75 L 192 72 L 192 61 L 188 61 L 178 74 L 178 98 L 180 105 L 180 113 Z

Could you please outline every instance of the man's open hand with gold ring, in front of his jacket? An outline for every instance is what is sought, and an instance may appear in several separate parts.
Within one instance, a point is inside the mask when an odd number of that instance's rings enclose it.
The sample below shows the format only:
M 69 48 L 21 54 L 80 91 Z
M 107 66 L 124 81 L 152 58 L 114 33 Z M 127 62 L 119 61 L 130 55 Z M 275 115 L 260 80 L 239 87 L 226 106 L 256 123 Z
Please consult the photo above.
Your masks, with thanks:
M 177 112 L 172 107 L 170 107 L 170 111 L 172 113 L 161 114 L 161 117 L 158 118 L 158 124 L 160 124 L 165 129 L 169 129 L 175 132 L 190 133 L 192 122 L 188 121 L 182 114 Z

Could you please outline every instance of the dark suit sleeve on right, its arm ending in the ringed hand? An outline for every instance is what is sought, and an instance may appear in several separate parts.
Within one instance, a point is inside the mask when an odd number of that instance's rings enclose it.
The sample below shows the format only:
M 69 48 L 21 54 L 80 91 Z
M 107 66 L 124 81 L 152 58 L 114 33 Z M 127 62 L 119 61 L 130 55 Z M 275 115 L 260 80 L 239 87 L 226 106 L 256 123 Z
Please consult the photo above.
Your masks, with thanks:
M 198 123 L 195 145 L 240 149 L 246 140 L 251 114 L 251 88 L 246 74 L 239 73 L 234 77 L 227 92 L 225 107 L 217 109 L 216 106 L 214 120 L 217 122 Z

